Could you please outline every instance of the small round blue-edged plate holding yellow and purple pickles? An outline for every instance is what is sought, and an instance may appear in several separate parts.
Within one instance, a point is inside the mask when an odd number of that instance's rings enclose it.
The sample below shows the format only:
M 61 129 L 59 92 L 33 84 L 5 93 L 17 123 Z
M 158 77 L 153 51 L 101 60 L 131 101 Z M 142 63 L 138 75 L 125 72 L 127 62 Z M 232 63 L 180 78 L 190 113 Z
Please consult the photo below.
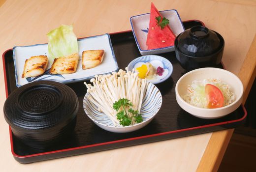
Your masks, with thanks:
M 128 71 L 132 71 L 132 69 L 134 69 L 134 71 L 137 72 L 136 68 L 140 67 L 142 64 L 145 64 L 146 62 L 150 62 L 156 69 L 159 66 L 163 68 L 162 76 L 156 75 L 154 79 L 148 79 L 150 83 L 159 84 L 167 80 L 171 76 L 173 71 L 173 66 L 171 62 L 164 57 L 156 55 L 148 55 L 135 58 L 128 64 Z

